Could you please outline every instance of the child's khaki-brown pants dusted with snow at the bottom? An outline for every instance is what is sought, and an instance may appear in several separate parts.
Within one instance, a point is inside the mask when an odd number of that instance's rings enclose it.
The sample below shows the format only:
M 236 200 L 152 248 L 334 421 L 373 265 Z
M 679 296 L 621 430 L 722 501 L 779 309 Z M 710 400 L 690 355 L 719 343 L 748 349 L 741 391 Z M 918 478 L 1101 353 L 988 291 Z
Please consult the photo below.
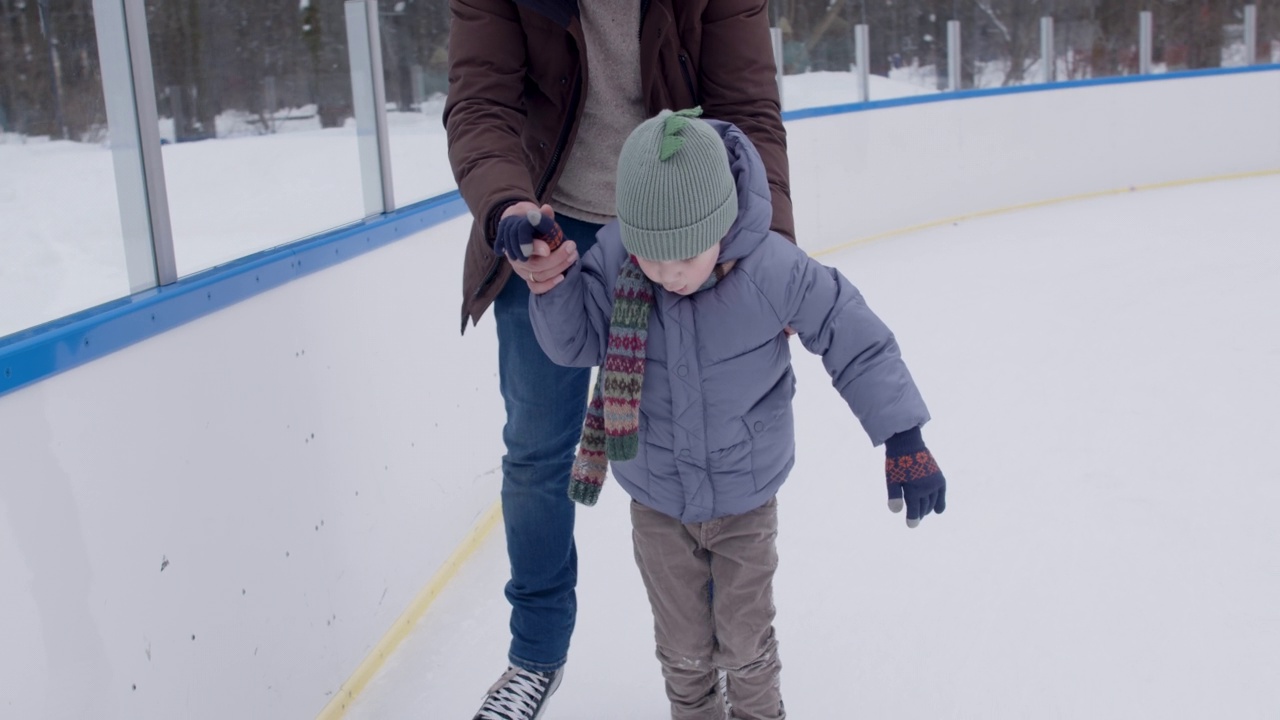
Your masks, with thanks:
M 777 500 L 689 525 L 632 501 L 631 527 L 672 720 L 783 720 Z M 727 698 L 717 689 L 721 670 Z

